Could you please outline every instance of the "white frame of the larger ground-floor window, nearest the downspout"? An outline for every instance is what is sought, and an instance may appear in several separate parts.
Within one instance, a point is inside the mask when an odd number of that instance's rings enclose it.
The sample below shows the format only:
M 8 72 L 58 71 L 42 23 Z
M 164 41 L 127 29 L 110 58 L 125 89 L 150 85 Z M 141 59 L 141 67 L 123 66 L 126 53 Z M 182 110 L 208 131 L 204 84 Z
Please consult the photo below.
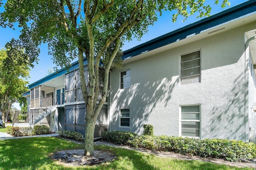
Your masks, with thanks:
M 183 106 L 199 106 L 199 120 L 182 120 L 181 119 L 181 107 Z M 201 130 L 202 130 L 202 121 L 201 121 L 201 104 L 193 104 L 193 105 L 180 105 L 179 108 L 179 136 L 181 137 L 187 137 L 187 136 L 182 136 L 182 121 L 188 121 L 188 122 L 199 122 L 199 137 L 189 137 L 189 138 L 197 138 L 201 139 Z

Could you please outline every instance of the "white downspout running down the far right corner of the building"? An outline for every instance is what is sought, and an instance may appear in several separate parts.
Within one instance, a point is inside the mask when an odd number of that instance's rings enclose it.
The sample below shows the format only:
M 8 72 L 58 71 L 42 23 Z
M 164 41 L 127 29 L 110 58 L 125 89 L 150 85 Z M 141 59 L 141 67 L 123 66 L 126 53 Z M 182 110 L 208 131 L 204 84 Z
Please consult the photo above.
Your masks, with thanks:
M 244 44 L 244 142 L 246 142 L 246 113 L 248 115 L 248 101 L 247 99 L 247 91 L 248 91 L 248 85 L 246 84 L 248 80 L 248 75 L 246 74 L 247 72 L 247 66 L 248 66 L 248 61 L 249 61 L 249 54 L 247 54 L 247 48 L 249 46 L 249 43 L 251 40 L 255 39 L 256 36 L 250 37 L 249 39 L 246 40 Z M 249 51 L 248 51 L 249 53 Z M 247 120 L 248 122 L 248 120 Z M 250 133 L 250 132 L 249 132 Z

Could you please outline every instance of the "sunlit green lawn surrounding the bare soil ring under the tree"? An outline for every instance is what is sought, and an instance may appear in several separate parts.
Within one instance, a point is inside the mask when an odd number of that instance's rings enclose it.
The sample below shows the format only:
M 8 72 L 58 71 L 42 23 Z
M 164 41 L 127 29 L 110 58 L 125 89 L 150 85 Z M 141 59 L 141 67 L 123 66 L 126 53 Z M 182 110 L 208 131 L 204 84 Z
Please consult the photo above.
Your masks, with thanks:
M 55 137 L 33 137 L 0 141 L 0 170 L 237 170 L 239 168 L 209 162 L 163 158 L 136 150 L 95 146 L 116 154 L 116 160 L 98 166 L 67 167 L 56 164 L 50 154 L 58 150 L 83 149 L 79 145 Z M 249 169 L 249 168 L 244 168 Z

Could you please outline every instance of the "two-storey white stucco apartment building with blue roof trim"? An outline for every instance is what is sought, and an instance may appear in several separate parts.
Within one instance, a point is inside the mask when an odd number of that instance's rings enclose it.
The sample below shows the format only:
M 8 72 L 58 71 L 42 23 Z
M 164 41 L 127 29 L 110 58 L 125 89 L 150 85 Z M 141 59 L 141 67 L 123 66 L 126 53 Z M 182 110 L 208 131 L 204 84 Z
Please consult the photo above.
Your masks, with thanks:
M 256 0 L 250 0 L 124 51 L 123 68 L 110 72 L 95 136 L 142 134 L 143 124 L 152 124 L 155 135 L 256 142 L 255 36 Z M 78 62 L 69 70 L 29 85 L 32 125 L 84 134 Z

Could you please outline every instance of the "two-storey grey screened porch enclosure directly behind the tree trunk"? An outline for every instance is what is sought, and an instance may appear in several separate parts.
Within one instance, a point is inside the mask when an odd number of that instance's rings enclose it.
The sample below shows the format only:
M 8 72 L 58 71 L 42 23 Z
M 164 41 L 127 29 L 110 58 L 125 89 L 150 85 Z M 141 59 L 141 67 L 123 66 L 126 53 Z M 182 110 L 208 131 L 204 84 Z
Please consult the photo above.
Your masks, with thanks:
M 84 66 L 84 78 L 88 87 L 89 74 L 88 66 Z M 98 101 L 102 98 L 102 89 L 104 84 L 104 69 L 99 69 L 99 88 Z M 81 89 L 80 72 L 74 70 L 65 75 L 65 113 L 64 127 L 68 131 L 78 131 L 85 134 L 86 125 L 86 105 L 83 104 L 83 95 Z M 103 131 L 107 131 L 107 105 L 103 105 L 100 114 L 96 120 L 94 137 L 100 137 Z

